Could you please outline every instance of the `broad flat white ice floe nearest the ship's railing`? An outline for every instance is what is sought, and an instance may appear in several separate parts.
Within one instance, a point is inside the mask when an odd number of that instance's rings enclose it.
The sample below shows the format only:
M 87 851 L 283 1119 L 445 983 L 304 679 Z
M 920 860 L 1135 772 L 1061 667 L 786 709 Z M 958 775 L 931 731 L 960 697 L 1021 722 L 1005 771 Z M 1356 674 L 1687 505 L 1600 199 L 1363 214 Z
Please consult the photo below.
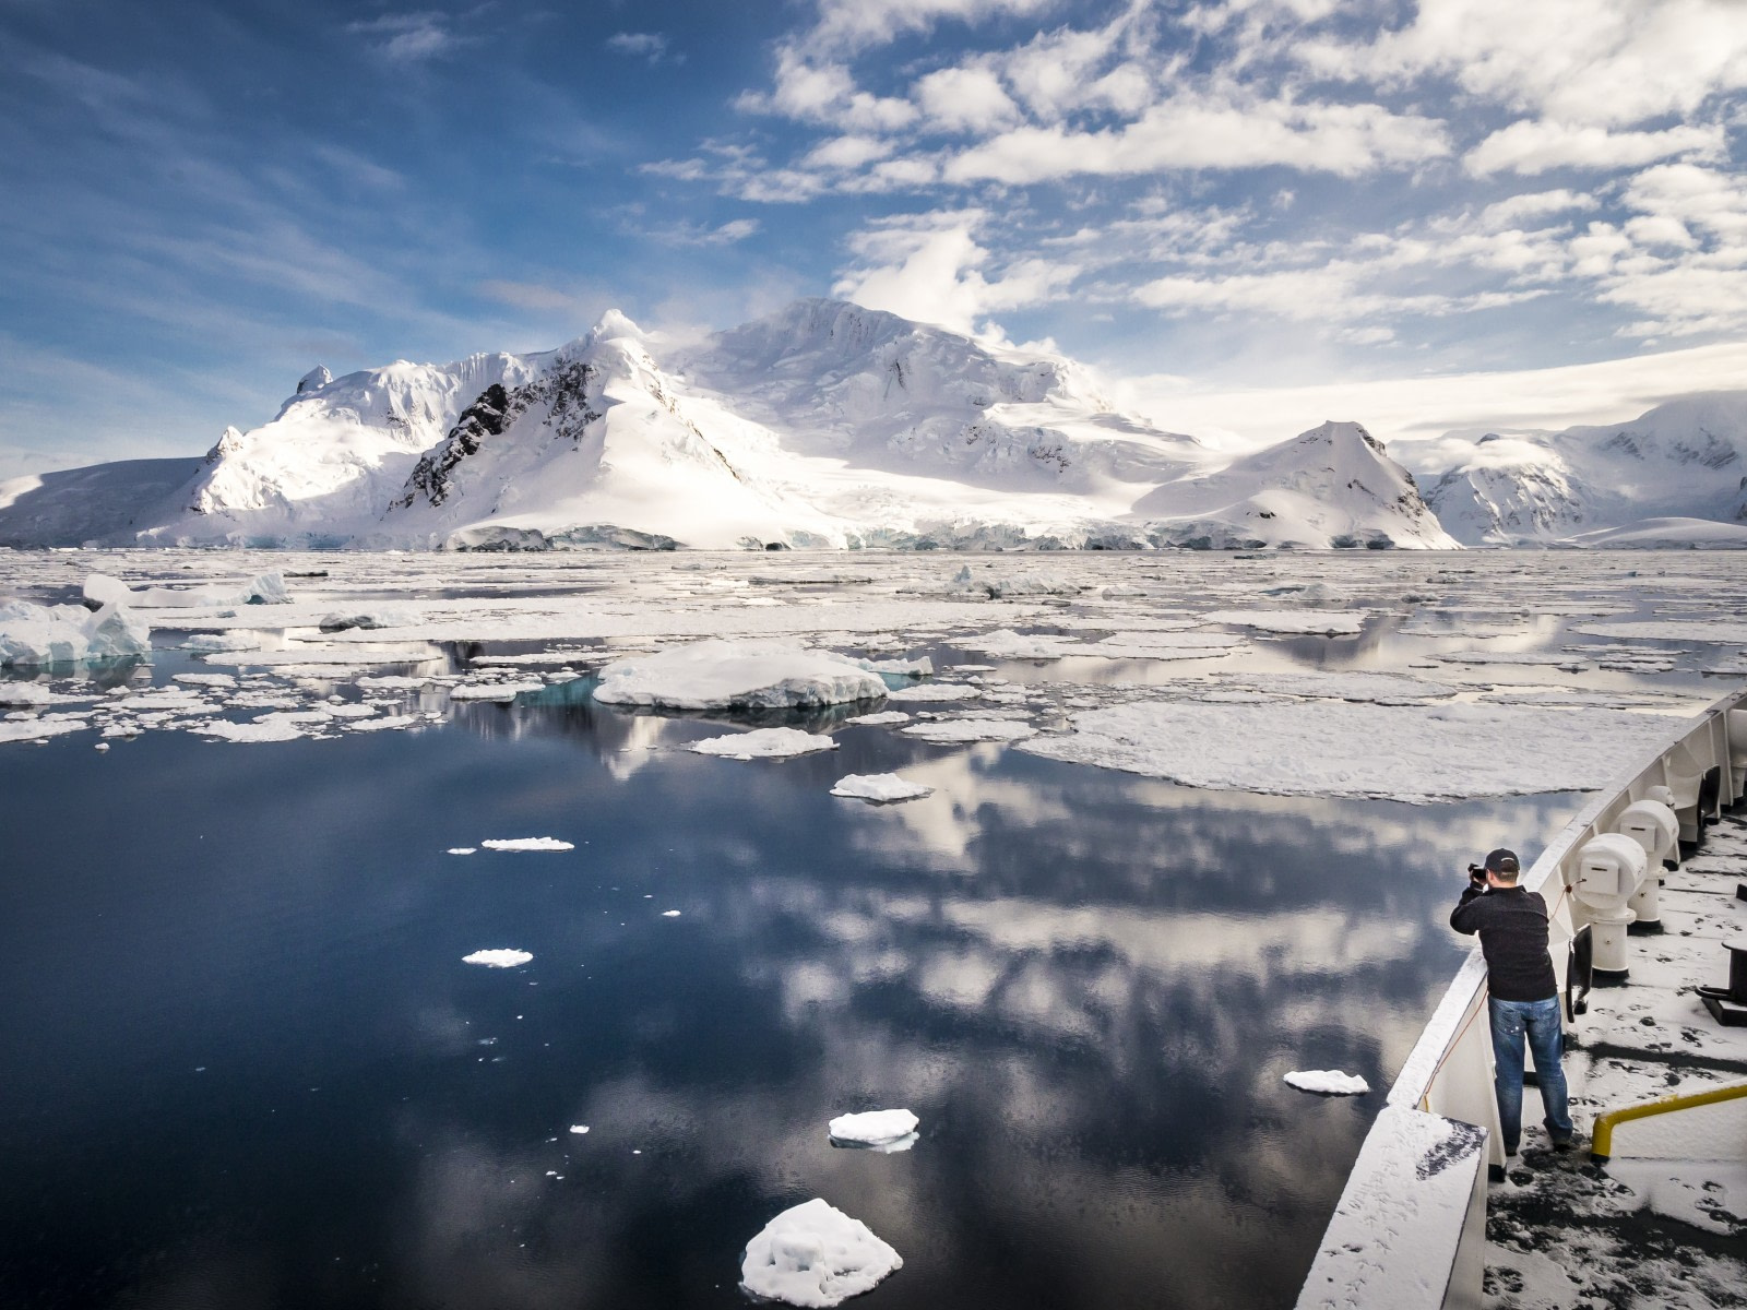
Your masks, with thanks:
M 1078 713 L 1073 734 L 1019 749 L 1186 786 L 1426 803 L 1592 791 L 1677 723 L 1612 709 L 1143 700 Z

